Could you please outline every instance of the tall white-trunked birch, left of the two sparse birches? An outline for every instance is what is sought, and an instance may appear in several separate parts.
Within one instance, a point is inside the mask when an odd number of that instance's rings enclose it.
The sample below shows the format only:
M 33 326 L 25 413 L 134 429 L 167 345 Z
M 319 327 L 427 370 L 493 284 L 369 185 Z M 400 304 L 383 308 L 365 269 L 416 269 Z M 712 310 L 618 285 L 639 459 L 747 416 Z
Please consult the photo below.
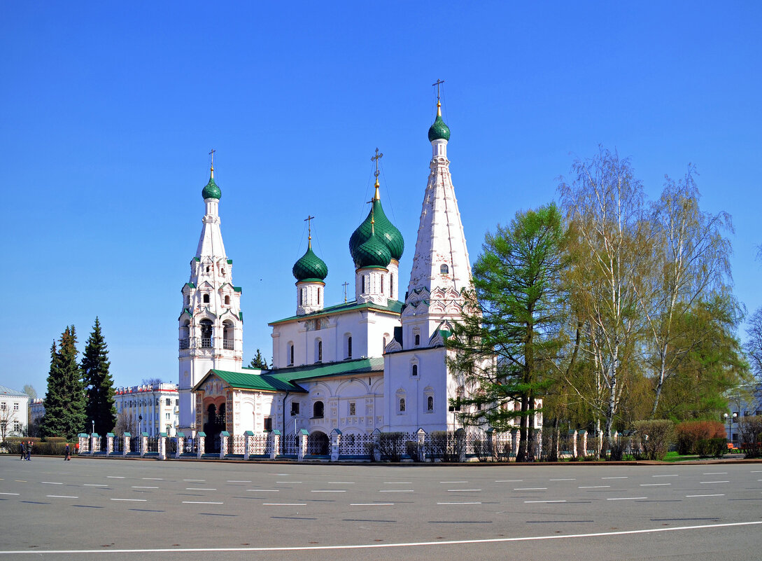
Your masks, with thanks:
M 586 341 L 580 352 L 588 355 L 601 398 L 590 405 L 604 418 L 604 438 L 610 445 L 625 388 L 621 365 L 634 360 L 642 328 L 633 287 L 648 267 L 643 259 L 643 190 L 629 159 L 603 147 L 594 158 L 577 160 L 572 171 L 575 180 L 559 185 L 571 229 L 572 299 Z

